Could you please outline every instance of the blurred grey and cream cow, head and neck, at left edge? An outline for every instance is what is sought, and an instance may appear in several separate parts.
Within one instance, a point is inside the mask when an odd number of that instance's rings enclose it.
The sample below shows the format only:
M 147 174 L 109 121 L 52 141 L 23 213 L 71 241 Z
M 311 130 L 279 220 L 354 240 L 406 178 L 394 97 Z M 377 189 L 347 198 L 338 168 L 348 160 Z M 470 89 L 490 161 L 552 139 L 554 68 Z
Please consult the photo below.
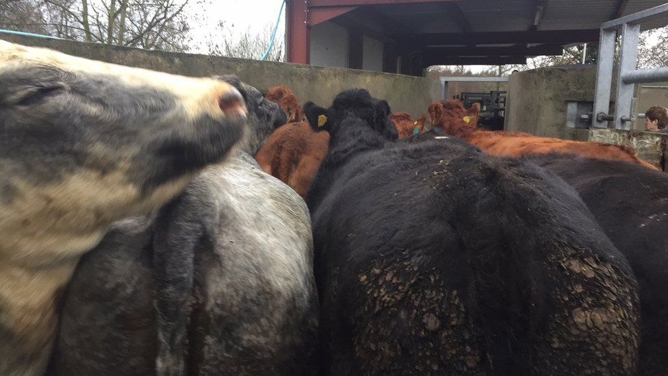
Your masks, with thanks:
M 227 158 L 245 114 L 227 82 L 0 40 L 0 375 L 44 372 L 81 255 Z

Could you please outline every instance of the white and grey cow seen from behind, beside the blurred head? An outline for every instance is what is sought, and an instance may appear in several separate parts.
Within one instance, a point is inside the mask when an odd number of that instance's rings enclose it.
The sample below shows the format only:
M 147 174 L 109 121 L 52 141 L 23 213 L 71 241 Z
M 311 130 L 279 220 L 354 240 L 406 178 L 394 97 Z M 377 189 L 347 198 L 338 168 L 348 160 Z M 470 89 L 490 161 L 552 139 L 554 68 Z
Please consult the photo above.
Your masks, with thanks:
M 307 207 L 251 157 L 285 123 L 235 77 L 248 136 L 151 216 L 116 223 L 64 299 L 55 375 L 303 375 L 318 297 Z

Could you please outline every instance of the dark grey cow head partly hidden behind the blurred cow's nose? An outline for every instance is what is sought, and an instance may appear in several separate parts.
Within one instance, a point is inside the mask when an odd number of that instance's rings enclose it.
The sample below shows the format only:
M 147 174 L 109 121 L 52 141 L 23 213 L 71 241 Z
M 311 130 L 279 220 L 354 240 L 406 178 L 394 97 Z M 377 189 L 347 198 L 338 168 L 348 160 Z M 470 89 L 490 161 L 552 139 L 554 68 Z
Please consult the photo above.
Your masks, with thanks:
M 224 75 L 216 77 L 239 90 L 246 108 L 248 108 L 248 121 L 244 141 L 240 142 L 240 148 L 248 154 L 255 155 L 264 145 L 269 134 L 274 129 L 287 123 L 287 118 L 281 107 L 262 96 L 253 86 L 244 84 L 235 75 Z

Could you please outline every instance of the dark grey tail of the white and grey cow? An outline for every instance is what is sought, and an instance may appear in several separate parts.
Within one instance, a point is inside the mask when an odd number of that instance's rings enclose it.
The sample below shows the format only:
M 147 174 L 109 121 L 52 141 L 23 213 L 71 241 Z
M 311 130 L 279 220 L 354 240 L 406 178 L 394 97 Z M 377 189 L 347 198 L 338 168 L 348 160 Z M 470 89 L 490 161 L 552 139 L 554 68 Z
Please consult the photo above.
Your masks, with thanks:
M 159 212 L 153 240 L 157 376 L 185 375 L 188 315 L 194 279 L 194 249 L 203 225 L 188 210 L 188 192 Z

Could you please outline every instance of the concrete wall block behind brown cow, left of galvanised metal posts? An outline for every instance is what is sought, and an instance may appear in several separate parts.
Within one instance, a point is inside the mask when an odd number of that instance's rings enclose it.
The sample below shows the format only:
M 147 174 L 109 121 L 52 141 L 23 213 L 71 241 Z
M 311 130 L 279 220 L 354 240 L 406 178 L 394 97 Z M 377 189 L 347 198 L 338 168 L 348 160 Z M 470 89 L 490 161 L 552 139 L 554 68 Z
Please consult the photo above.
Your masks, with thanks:
M 566 126 L 566 102 L 593 101 L 595 80 L 596 67 L 593 65 L 514 73 L 508 82 L 509 103 L 506 105 L 504 129 L 586 141 L 589 138 L 588 129 Z

